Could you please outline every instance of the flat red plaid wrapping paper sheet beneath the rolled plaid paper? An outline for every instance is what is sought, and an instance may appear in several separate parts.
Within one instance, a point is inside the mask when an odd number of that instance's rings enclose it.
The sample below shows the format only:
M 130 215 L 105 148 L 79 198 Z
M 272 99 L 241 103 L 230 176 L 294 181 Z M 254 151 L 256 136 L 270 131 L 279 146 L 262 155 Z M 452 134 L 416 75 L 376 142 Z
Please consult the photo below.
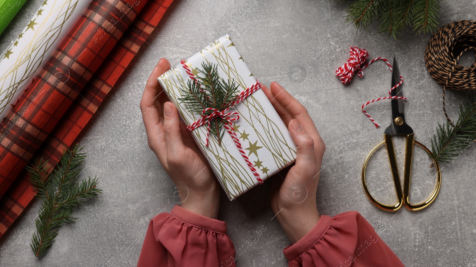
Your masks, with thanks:
M 139 13 L 132 26 L 109 53 L 99 70 L 69 107 L 53 132 L 40 147 L 35 158 L 43 157 L 55 166 L 63 152 L 76 139 L 89 122 L 106 95 L 112 89 L 119 76 L 129 65 L 139 48 L 149 37 L 159 20 L 173 0 L 149 0 Z M 0 237 L 18 218 L 20 213 L 33 199 L 35 192 L 31 188 L 27 172 L 20 173 L 18 179 L 0 199 Z

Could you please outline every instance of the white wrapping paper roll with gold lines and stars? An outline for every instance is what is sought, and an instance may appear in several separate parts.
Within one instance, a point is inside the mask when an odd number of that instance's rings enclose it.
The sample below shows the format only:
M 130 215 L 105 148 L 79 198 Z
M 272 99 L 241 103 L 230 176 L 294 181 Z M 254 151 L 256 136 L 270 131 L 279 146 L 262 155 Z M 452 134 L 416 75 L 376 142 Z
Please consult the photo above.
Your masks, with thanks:
M 0 123 L 68 36 L 92 0 L 45 0 L 0 59 Z

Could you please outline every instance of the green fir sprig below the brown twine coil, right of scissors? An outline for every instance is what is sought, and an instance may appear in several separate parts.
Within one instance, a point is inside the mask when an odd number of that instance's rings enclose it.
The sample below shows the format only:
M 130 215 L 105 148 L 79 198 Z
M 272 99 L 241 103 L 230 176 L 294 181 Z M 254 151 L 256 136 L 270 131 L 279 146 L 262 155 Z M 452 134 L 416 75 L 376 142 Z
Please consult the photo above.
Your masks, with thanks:
M 454 126 L 449 122 L 446 125 L 438 124 L 431 140 L 434 162 L 452 162 L 475 140 L 476 94 L 472 94 L 459 106 L 459 118 Z

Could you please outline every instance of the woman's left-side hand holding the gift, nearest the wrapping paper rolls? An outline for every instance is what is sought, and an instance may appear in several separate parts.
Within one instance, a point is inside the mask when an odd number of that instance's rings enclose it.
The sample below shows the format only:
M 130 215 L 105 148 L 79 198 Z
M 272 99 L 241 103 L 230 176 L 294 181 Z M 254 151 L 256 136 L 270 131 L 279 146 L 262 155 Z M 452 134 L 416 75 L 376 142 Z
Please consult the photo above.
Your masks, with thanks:
M 169 69 L 169 61 L 160 58 L 140 100 L 147 141 L 175 183 L 182 208 L 217 219 L 218 181 L 157 80 Z

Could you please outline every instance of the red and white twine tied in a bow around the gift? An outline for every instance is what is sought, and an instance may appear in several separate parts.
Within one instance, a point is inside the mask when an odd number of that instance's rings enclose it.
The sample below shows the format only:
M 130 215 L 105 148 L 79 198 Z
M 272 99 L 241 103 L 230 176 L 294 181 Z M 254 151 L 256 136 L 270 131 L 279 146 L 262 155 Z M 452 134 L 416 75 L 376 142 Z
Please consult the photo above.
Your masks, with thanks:
M 190 68 L 187 66 L 187 63 L 185 63 L 185 60 L 182 60 L 180 61 L 180 64 L 182 64 L 182 67 L 185 68 L 185 71 L 187 72 L 188 76 L 194 80 L 196 83 L 198 83 L 198 80 L 197 78 L 195 78 L 195 76 L 193 75 L 192 71 L 190 70 Z M 232 121 L 236 121 L 239 119 L 239 114 L 238 112 L 228 112 L 228 110 L 234 106 L 234 105 L 237 105 L 238 103 L 240 103 L 241 101 L 243 101 L 243 99 L 247 98 L 249 95 L 253 94 L 254 92 L 256 92 L 258 89 L 260 89 L 261 86 L 259 85 L 259 82 L 258 80 L 256 81 L 255 84 L 253 84 L 252 86 L 248 87 L 246 90 L 242 91 L 238 97 L 233 101 L 233 102 L 230 102 L 228 103 L 227 105 L 227 108 L 225 108 L 224 110 L 218 110 L 216 108 L 211 108 L 211 107 L 208 107 L 208 108 L 205 108 L 203 109 L 202 111 L 202 117 L 199 118 L 197 121 L 195 121 L 194 123 L 188 125 L 185 127 L 185 129 L 187 129 L 188 131 L 193 131 L 195 129 L 197 129 L 198 127 L 204 125 L 204 124 L 207 124 L 207 143 L 206 143 L 206 146 L 208 146 L 208 136 L 210 134 L 210 122 L 211 120 L 213 119 L 217 119 L 217 118 L 220 118 L 221 120 L 224 121 L 223 123 L 223 126 L 225 127 L 225 129 L 227 130 L 228 134 L 230 134 L 231 136 L 231 139 L 233 140 L 233 142 L 235 142 L 235 145 L 237 146 L 239 152 L 241 153 L 241 155 L 243 156 L 243 158 L 245 159 L 249 169 L 251 170 L 251 172 L 253 172 L 253 174 L 255 175 L 256 177 L 256 180 L 258 180 L 258 183 L 263 183 L 263 180 L 261 179 L 261 177 L 259 176 L 258 174 L 258 171 L 256 170 L 256 168 L 253 166 L 253 163 L 251 163 L 251 161 L 249 160 L 248 156 L 246 155 L 245 151 L 243 150 L 243 148 L 241 147 L 241 143 L 239 142 L 239 139 L 238 139 L 238 136 L 237 134 L 235 133 L 235 128 L 233 128 L 233 124 L 231 124 Z M 208 113 L 209 111 L 211 111 L 211 113 L 209 113 L 208 115 L 206 113 Z M 236 115 L 236 117 L 230 117 L 232 115 Z

